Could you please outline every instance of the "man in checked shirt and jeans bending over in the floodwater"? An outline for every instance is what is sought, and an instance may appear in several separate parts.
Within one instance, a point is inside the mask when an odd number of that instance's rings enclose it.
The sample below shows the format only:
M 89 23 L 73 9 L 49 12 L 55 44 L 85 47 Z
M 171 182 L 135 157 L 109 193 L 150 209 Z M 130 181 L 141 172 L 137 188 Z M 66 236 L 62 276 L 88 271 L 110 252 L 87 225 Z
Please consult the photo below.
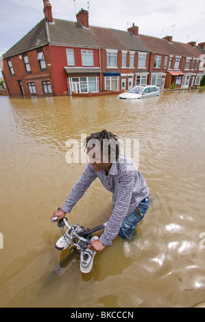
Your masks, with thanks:
M 149 188 L 133 160 L 119 153 L 119 142 L 114 134 L 104 129 L 91 134 L 85 143 L 89 162 L 80 179 L 67 197 L 62 210 L 51 218 L 62 219 L 71 212 L 75 203 L 84 195 L 91 183 L 99 177 L 101 183 L 112 193 L 114 208 L 100 238 L 91 241 L 92 251 L 101 251 L 112 245 L 119 236 L 130 240 L 134 228 L 149 207 Z

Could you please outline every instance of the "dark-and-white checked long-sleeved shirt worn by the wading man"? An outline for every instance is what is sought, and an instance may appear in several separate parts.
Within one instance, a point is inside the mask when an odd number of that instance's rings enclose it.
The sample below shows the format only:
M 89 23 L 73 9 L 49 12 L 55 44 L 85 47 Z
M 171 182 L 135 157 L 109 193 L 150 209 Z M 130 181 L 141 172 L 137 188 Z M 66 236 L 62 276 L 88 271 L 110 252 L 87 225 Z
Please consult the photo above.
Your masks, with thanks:
M 103 245 L 112 245 L 112 240 L 119 233 L 125 216 L 134 212 L 141 200 L 149 196 L 149 188 L 143 175 L 127 156 L 120 155 L 112 163 L 108 175 L 104 170 L 94 171 L 90 163 L 82 173 L 71 193 L 64 202 L 64 212 L 71 212 L 75 203 L 84 195 L 91 183 L 99 177 L 104 187 L 112 193 L 114 208 L 108 224 L 99 240 Z

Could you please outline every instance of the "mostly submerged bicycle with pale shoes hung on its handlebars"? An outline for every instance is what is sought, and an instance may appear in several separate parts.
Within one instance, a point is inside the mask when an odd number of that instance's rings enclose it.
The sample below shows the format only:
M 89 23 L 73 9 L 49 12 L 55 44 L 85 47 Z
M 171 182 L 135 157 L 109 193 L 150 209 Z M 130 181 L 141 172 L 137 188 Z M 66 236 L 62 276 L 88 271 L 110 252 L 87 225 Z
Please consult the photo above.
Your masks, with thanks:
M 61 210 L 61 208 L 58 208 Z M 54 217 L 51 221 L 56 222 L 58 217 Z M 56 249 L 62 251 L 67 249 L 73 249 L 76 247 L 77 251 L 80 251 L 80 271 L 82 273 L 89 273 L 93 268 L 93 258 L 95 256 L 95 251 L 89 249 L 91 241 L 97 239 L 97 236 L 93 236 L 94 232 L 101 230 L 106 227 L 106 223 L 102 223 L 97 227 L 92 229 L 87 229 L 84 226 L 79 226 L 79 224 L 69 225 L 67 223 L 67 218 L 60 219 L 57 221 L 57 225 L 62 232 L 62 236 L 56 242 Z M 64 232 L 64 226 L 68 228 L 67 232 Z

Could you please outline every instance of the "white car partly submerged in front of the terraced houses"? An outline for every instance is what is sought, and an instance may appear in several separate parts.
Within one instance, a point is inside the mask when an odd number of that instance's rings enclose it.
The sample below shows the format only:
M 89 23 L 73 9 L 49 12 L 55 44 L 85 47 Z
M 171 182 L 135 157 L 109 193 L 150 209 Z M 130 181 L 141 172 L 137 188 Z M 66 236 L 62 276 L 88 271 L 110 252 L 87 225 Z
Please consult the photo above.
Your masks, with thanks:
M 153 96 L 160 96 L 160 88 L 153 85 L 137 85 L 128 92 L 123 92 L 122 94 L 118 95 L 118 99 L 143 99 L 145 97 L 153 97 Z

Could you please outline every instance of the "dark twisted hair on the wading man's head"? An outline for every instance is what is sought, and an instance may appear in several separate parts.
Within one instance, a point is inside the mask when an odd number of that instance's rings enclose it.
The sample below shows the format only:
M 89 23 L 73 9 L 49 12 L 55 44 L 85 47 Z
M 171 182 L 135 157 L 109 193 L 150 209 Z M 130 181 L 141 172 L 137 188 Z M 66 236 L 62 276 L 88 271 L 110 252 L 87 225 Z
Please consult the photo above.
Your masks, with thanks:
M 112 132 L 109 132 L 106 129 L 103 129 L 100 132 L 95 132 L 85 139 L 85 147 L 88 147 L 88 142 L 92 139 L 99 140 L 99 143 L 101 145 L 101 151 L 103 151 L 106 144 L 108 145 L 108 155 L 110 156 L 111 162 L 112 160 L 118 160 L 120 151 L 119 142 L 117 140 L 116 134 L 113 134 Z M 113 154 L 113 151 L 114 155 L 111 156 L 111 154 Z

